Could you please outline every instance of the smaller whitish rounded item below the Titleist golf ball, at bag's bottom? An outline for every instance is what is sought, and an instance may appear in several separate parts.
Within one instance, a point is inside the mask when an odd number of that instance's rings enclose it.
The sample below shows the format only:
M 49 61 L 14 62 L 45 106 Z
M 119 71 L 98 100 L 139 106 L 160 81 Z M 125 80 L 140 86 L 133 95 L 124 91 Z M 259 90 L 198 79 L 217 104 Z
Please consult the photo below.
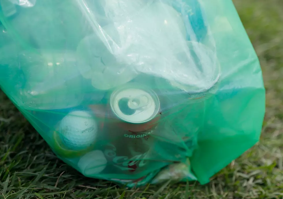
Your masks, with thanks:
M 79 170 L 85 176 L 102 172 L 106 168 L 107 160 L 102 151 L 90 151 L 78 162 Z

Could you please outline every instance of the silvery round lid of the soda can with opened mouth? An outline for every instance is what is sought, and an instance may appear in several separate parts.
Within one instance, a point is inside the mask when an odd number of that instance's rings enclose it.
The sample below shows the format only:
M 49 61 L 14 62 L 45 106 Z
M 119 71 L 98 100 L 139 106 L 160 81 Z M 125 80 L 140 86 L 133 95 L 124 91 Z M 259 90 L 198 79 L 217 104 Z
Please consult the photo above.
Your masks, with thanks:
M 159 99 L 151 89 L 130 85 L 114 91 L 110 97 L 111 109 L 116 116 L 129 123 L 144 123 L 159 112 Z

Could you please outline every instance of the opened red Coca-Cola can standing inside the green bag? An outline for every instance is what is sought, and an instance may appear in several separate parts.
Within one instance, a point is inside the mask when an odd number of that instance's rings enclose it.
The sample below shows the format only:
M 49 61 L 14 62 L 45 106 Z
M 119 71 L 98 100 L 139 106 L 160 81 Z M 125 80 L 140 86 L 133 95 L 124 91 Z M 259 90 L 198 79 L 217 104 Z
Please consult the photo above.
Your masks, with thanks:
M 144 171 L 146 159 L 150 159 L 159 113 L 159 98 L 148 87 L 129 83 L 111 93 L 105 156 L 114 166 L 126 174 Z

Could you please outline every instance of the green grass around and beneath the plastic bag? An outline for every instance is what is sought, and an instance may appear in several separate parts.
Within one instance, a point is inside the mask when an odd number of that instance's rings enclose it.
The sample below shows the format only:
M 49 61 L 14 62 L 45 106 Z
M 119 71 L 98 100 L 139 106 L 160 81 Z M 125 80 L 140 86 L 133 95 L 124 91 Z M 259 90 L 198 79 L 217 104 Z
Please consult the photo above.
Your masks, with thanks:
M 207 185 L 179 183 L 126 189 L 83 177 L 57 159 L 0 93 L 0 199 L 12 198 L 283 198 L 283 1 L 235 0 L 259 56 L 266 87 L 260 142 Z

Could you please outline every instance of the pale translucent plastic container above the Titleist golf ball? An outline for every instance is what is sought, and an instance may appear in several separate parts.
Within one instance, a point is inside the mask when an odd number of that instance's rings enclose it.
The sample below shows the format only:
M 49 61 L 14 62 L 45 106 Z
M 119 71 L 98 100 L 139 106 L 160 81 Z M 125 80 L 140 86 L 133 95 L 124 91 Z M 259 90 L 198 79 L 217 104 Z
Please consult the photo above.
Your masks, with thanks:
M 26 51 L 21 52 L 19 61 L 26 78 L 22 90 L 25 107 L 53 110 L 79 106 L 85 91 L 91 89 L 79 75 L 75 52 Z

